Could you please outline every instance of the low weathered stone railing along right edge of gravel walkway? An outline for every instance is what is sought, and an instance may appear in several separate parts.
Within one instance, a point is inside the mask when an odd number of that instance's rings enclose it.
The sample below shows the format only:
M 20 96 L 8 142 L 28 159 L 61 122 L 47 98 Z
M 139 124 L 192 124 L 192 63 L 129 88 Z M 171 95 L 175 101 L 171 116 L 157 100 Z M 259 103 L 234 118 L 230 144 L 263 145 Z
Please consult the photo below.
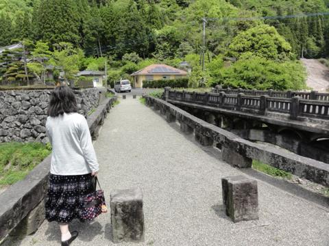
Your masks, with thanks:
M 173 92 L 175 93 L 175 92 Z M 182 97 L 183 94 L 176 92 L 176 96 Z M 192 96 L 187 93 L 184 96 Z M 201 94 L 193 94 L 199 100 Z M 184 133 L 195 135 L 195 139 L 204 146 L 217 146 L 221 148 L 222 159 L 234 167 L 252 167 L 252 160 L 262 161 L 273 167 L 277 167 L 287 172 L 306 178 L 310 181 L 323 184 L 329 187 L 329 165 L 320 161 L 306 158 L 285 150 L 247 141 L 234 135 L 218 126 L 214 126 L 204 120 L 201 120 L 186 111 L 175 107 L 169 102 L 145 96 L 146 104 L 160 110 L 162 115 L 166 115 L 168 122 L 178 121 L 180 128 Z M 236 103 L 237 98 L 232 96 L 227 98 L 232 104 Z

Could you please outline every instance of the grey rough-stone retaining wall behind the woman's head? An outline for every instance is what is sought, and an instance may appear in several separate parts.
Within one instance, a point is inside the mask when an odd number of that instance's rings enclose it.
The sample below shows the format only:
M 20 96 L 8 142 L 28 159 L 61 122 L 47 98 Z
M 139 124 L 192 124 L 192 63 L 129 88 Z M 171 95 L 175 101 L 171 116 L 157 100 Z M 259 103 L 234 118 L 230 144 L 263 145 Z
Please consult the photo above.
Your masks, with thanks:
M 79 113 L 87 115 L 99 105 L 106 90 L 92 88 L 74 91 Z M 47 143 L 45 124 L 51 90 L 0 92 L 0 143 L 40 141 Z

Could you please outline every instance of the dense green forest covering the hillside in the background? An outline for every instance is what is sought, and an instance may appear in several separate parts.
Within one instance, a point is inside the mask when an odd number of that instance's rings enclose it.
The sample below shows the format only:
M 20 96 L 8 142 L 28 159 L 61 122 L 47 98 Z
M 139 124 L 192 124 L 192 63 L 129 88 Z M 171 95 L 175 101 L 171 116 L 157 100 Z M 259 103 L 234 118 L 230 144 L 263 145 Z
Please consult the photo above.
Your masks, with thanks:
M 188 61 L 191 87 L 204 81 L 302 89 L 305 71 L 298 59 L 329 53 L 328 5 L 328 0 L 0 0 L 0 46 L 26 42 L 32 56 L 49 57 L 42 66 L 66 68 L 67 79 L 77 70 L 103 70 L 105 62 L 113 81 L 152 63 Z M 237 60 L 228 66 L 227 57 Z M 8 66 L 1 72 L 5 77 Z M 42 68 L 29 64 L 29 72 L 40 74 Z

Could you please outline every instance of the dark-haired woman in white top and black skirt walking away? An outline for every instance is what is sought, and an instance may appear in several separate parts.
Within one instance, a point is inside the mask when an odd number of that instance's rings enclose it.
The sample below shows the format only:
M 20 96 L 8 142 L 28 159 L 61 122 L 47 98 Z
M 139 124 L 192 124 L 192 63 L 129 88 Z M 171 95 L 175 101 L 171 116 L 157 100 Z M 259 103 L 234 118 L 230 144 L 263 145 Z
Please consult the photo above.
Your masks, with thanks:
M 80 219 L 84 197 L 95 189 L 98 163 L 88 124 L 77 113 L 72 90 L 65 86 L 53 90 L 49 102 L 46 128 L 53 148 L 46 197 L 46 219 L 57 221 L 62 246 L 70 245 L 77 232 L 69 231 L 72 219 Z

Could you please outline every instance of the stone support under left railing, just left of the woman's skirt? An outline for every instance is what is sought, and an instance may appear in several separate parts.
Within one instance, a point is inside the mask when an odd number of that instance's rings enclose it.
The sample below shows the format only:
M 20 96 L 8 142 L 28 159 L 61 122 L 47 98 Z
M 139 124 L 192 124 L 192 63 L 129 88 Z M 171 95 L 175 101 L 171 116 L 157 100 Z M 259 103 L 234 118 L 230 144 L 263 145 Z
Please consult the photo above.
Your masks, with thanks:
M 45 200 L 31 210 L 26 217 L 10 232 L 10 236 L 26 236 L 38 230 L 45 220 Z

